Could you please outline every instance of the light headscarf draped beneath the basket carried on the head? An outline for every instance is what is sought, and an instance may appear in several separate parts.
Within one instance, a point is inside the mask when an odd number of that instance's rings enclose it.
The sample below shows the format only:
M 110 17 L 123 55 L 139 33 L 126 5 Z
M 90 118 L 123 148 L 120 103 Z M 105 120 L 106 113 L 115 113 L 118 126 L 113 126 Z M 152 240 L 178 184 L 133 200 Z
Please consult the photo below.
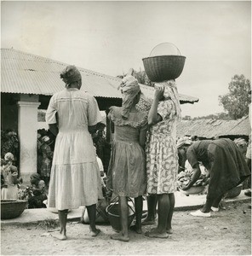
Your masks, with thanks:
M 156 83 L 155 85 L 164 86 L 163 96 L 166 99 L 170 97 L 170 99 L 175 103 L 177 117 L 180 120 L 181 119 L 180 97 L 179 97 L 177 86 L 175 84 L 175 80 L 163 81 L 161 83 Z

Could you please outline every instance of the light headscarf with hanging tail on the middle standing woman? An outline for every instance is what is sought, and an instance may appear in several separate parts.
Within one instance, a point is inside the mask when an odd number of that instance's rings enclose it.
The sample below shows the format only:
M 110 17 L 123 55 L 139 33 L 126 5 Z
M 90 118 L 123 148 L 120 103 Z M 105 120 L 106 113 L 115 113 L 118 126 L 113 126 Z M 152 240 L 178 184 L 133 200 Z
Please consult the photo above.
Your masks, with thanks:
M 123 119 L 128 119 L 130 109 L 133 107 L 135 96 L 140 92 L 140 86 L 137 79 L 131 75 L 127 75 L 123 78 L 122 84 L 120 84 L 120 90 L 123 94 Z

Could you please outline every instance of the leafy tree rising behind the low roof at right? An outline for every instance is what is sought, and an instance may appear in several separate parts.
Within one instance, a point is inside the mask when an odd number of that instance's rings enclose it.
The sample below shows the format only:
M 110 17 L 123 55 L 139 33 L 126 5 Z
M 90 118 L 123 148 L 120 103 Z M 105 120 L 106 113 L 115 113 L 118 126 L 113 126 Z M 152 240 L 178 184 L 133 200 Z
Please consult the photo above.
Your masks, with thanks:
M 240 119 L 249 114 L 250 81 L 243 75 L 235 75 L 228 84 L 229 93 L 219 96 L 220 105 L 232 119 Z

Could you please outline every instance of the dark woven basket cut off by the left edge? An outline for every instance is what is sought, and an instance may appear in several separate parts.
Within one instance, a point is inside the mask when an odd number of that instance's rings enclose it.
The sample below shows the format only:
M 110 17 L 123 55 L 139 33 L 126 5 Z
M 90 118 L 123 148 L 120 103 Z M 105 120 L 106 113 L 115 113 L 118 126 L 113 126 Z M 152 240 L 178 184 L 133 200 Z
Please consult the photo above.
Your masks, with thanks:
M 19 217 L 26 205 L 26 200 L 1 200 L 1 219 Z

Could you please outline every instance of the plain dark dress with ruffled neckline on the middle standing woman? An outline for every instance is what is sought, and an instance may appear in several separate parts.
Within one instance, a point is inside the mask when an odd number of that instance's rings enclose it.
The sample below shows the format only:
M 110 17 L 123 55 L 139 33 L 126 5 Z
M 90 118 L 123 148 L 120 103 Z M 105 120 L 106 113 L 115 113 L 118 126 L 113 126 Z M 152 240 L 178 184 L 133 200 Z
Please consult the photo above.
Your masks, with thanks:
M 114 195 L 138 197 L 146 194 L 146 157 L 139 144 L 141 129 L 147 127 L 147 113 L 129 113 L 122 119 L 122 108 L 112 107 L 108 118 L 115 125 L 107 187 Z

